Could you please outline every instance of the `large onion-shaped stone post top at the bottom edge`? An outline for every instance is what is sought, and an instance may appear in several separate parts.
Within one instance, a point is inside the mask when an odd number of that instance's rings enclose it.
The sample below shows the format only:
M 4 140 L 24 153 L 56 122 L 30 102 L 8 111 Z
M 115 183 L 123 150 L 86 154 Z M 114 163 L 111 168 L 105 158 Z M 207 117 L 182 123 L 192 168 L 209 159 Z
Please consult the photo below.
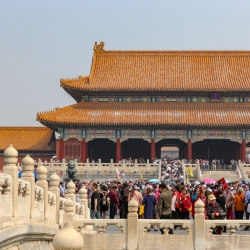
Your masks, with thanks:
M 55 250 L 81 250 L 84 246 L 83 237 L 67 221 L 64 228 L 58 231 L 53 239 Z

